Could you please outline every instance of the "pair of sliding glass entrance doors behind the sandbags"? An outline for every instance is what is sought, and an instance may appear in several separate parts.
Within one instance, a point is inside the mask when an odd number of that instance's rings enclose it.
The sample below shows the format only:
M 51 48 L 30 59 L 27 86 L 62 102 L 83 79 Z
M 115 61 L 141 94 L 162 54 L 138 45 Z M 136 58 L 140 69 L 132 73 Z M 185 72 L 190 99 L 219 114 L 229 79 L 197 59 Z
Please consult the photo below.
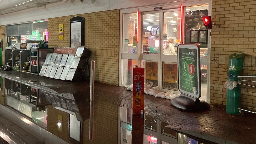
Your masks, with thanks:
M 144 12 L 142 21 L 142 67 L 145 67 L 146 84 L 159 86 L 162 90 L 178 91 L 180 11 Z

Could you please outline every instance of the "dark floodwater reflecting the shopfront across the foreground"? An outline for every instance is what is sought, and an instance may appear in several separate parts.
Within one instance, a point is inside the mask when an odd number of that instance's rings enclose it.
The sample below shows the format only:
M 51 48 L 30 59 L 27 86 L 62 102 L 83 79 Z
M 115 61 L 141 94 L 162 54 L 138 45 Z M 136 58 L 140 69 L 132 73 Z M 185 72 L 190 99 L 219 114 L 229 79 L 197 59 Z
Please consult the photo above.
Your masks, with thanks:
M 153 116 L 133 116 L 129 106 L 113 103 L 113 99 L 96 98 L 90 104 L 89 93 L 52 93 L 6 78 L 1 91 L 1 105 L 21 115 L 17 118 L 26 123 L 19 131 L 46 144 L 211 144 L 169 129 Z M 49 134 L 53 134 L 51 138 L 47 138 Z M 26 137 L 20 137 L 26 143 Z

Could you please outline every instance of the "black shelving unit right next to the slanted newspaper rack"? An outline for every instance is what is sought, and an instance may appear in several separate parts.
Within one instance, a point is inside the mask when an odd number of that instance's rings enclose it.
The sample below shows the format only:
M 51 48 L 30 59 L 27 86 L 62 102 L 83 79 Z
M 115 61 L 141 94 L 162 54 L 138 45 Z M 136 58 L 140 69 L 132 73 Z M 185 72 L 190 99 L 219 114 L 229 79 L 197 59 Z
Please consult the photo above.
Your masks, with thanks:
M 53 53 L 53 48 L 30 48 L 30 73 L 38 75 L 48 53 Z M 34 63 L 36 60 L 36 64 Z

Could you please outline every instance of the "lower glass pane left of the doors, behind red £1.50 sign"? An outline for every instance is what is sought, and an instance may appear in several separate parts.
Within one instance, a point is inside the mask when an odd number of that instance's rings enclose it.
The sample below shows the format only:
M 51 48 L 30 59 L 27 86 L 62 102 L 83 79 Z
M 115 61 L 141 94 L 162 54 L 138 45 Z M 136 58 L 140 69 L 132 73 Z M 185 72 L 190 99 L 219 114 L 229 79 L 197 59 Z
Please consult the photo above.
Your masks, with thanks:
M 132 69 L 133 66 L 137 64 L 137 60 L 132 59 L 122 59 L 122 84 L 131 85 L 132 84 Z

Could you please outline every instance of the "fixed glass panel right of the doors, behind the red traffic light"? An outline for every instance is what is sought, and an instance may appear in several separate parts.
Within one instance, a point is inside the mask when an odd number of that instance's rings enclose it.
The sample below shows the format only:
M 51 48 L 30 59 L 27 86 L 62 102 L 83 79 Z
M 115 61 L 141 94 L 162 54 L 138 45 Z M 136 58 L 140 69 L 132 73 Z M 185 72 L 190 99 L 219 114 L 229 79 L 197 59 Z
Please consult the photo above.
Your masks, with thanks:
M 185 12 L 185 43 L 192 42 L 192 32 L 196 32 L 196 35 L 199 36 L 196 38 L 196 41 L 200 42 L 198 45 L 200 47 L 200 62 L 201 62 L 201 98 L 200 100 L 206 101 L 207 96 L 207 66 L 208 66 L 208 55 L 207 55 L 207 35 L 208 31 L 205 30 L 203 26 L 202 17 L 208 15 L 209 5 L 199 5 L 191 6 L 186 8 Z M 191 34 L 191 35 L 190 35 Z

